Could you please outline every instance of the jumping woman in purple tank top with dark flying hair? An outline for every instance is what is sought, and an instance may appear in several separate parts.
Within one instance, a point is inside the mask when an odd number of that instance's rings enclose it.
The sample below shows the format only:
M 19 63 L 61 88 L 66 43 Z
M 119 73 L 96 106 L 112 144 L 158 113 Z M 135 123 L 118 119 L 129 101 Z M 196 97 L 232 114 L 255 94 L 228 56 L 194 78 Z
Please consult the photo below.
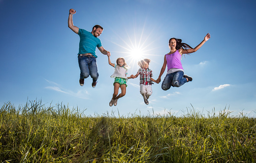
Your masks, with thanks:
M 164 55 L 163 65 L 157 79 L 157 83 L 159 83 L 167 65 L 167 74 L 162 81 L 162 90 L 169 90 L 171 86 L 180 87 L 186 82 L 192 81 L 192 77 L 184 75 L 184 70 L 181 65 L 182 54 L 189 54 L 197 51 L 210 38 L 211 36 L 208 33 L 204 37 L 204 40 L 195 48 L 192 48 L 188 44 L 182 43 L 181 39 L 171 38 L 169 40 L 170 52 Z

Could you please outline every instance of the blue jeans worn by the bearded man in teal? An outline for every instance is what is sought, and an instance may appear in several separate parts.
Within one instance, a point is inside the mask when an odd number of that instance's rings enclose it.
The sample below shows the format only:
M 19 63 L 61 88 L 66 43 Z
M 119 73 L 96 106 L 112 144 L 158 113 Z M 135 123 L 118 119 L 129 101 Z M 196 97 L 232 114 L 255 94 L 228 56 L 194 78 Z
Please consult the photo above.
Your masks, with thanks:
M 78 56 L 78 64 L 80 68 L 80 78 L 88 78 L 89 75 L 93 78 L 93 82 L 98 79 L 98 70 L 95 57 Z

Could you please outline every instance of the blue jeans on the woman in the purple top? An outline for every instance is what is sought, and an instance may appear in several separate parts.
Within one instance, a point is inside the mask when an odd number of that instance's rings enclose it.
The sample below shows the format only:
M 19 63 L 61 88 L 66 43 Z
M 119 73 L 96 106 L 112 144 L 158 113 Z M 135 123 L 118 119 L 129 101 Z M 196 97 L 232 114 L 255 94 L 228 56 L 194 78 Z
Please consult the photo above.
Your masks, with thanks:
M 183 71 L 176 71 L 173 73 L 168 73 L 162 81 L 162 90 L 166 91 L 173 87 L 180 87 L 187 83 L 187 78 L 183 78 Z

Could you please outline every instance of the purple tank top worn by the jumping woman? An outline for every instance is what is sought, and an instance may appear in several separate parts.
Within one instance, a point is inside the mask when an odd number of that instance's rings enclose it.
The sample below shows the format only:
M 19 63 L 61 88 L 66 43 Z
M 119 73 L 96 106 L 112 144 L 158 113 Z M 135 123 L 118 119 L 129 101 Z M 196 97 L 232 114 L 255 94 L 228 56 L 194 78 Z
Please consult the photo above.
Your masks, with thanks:
M 181 65 L 181 55 L 179 53 L 179 50 L 176 50 L 174 53 L 172 54 L 165 54 L 165 58 L 167 61 L 167 69 L 182 69 L 182 65 Z M 167 71 L 168 71 L 167 70 Z

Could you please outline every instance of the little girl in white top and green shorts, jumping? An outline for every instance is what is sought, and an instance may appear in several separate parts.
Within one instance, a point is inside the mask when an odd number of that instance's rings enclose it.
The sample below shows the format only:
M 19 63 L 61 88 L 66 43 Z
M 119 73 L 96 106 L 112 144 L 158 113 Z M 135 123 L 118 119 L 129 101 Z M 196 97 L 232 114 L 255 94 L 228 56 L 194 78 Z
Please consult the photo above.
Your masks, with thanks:
M 109 102 L 109 106 L 117 105 L 117 100 L 124 95 L 126 95 L 126 87 L 127 87 L 127 80 L 130 78 L 133 78 L 133 75 L 130 75 L 130 77 L 126 77 L 127 75 L 127 64 L 124 58 L 118 58 L 116 63 L 113 64 L 110 61 L 110 56 L 108 56 L 108 63 L 109 65 L 113 66 L 115 68 L 115 72 L 110 76 L 114 77 L 114 93 L 111 101 Z M 121 93 L 118 95 L 119 87 L 121 88 Z

